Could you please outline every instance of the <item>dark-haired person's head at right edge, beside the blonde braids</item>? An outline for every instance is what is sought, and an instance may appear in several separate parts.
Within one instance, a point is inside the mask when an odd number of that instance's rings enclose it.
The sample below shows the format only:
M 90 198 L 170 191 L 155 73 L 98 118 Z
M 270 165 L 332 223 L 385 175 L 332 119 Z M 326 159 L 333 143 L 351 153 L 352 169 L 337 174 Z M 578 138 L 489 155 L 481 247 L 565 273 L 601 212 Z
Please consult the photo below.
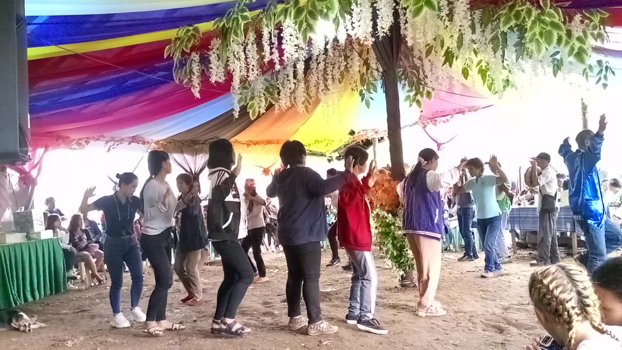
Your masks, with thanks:
M 622 257 L 605 260 L 592 274 L 605 324 L 622 326 Z

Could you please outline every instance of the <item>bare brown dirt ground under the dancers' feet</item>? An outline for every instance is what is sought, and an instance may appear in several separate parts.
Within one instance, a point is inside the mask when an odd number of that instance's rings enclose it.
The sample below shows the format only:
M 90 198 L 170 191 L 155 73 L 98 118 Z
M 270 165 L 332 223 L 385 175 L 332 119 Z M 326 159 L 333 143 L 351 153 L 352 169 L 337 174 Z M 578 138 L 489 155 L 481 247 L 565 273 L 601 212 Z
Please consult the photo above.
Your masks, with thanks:
M 341 255 L 345 257 L 343 251 Z M 448 315 L 441 318 L 415 316 L 416 291 L 399 288 L 394 272 L 385 267 L 383 259 L 376 259 L 380 279 L 376 317 L 389 328 L 386 336 L 363 333 L 343 322 L 350 275 L 341 268 L 323 268 L 320 279 L 323 315 L 340 326 L 339 332 L 332 336 L 310 337 L 288 331 L 284 303 L 285 258 L 281 253 L 271 253 L 266 255 L 270 280 L 252 285 L 238 311 L 238 320 L 253 328 L 253 333 L 246 338 L 223 339 L 209 333 L 216 289 L 222 275 L 221 267 L 215 264 L 203 269 L 205 302 L 195 308 L 180 303 L 185 293 L 175 277 L 169 293 L 168 318 L 183 321 L 187 325 L 183 331 L 169 331 L 160 338 L 151 338 L 142 333 L 142 324 L 134 324 L 129 329 L 112 329 L 108 287 L 104 285 L 68 291 L 21 306 L 21 310 L 39 315 L 37 320 L 47 324 L 47 328 L 30 334 L 0 332 L 0 344 L 3 349 L 98 350 L 524 349 L 528 339 L 542 333 L 527 296 L 531 268 L 526 255 L 506 265 L 509 275 L 491 280 L 479 277 L 483 258 L 476 262 L 457 262 L 457 257 L 457 254 L 443 257 L 437 299 L 447 308 Z M 330 253 L 325 252 L 324 263 L 329 258 Z M 129 274 L 126 274 L 122 292 L 124 311 L 129 311 L 129 281 Z M 153 275 L 146 275 L 143 310 L 146 310 L 153 285 Z

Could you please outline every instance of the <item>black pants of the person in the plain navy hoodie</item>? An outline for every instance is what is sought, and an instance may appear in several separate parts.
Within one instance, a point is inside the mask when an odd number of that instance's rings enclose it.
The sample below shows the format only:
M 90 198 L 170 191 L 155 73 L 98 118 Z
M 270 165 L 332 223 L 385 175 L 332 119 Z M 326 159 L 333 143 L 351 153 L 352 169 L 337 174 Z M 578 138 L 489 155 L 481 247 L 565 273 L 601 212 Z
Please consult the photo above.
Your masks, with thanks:
M 307 305 L 309 324 L 322 321 L 320 310 L 320 263 L 322 245 L 309 242 L 300 245 L 284 245 L 287 262 L 287 316 L 300 316 L 300 294 Z

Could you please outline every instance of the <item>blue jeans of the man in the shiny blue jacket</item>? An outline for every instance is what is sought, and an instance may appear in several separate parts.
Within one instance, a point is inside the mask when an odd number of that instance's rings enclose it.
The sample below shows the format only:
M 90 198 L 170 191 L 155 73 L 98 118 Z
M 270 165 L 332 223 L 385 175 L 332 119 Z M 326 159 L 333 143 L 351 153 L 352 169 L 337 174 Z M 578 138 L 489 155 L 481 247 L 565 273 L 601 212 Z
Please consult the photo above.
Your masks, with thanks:
M 584 220 L 577 220 L 585 235 L 587 244 L 587 271 L 590 275 L 607 259 L 607 254 L 622 246 L 622 230 L 610 219 L 605 218 L 602 229 L 594 227 Z

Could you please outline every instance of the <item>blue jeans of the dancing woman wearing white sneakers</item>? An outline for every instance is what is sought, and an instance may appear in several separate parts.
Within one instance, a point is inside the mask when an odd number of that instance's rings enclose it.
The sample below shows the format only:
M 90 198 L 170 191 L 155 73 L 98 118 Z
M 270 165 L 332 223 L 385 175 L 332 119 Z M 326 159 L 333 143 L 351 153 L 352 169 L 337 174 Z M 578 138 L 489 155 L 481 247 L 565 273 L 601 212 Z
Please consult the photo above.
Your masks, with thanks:
M 106 237 L 104 260 L 110 273 L 110 306 L 113 314 L 121 313 L 121 286 L 123 286 L 123 262 L 129 268 L 132 287 L 129 291 L 131 307 L 136 308 L 142 294 L 142 258 L 136 236 Z

